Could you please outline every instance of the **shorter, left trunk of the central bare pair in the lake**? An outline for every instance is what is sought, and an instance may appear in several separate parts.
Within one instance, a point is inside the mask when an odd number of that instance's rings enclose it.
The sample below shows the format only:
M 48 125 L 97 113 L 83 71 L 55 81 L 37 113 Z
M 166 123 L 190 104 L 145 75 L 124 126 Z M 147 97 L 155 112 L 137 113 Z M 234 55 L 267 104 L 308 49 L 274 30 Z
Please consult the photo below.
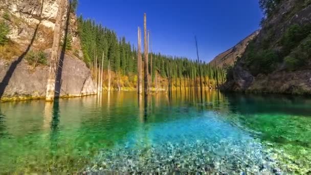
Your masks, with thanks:
M 138 76 L 138 81 L 137 81 L 137 93 L 142 94 L 143 92 L 143 72 L 142 72 L 142 51 L 141 51 L 141 46 L 142 46 L 142 39 L 141 39 L 141 30 L 138 27 L 138 53 L 137 53 L 137 76 Z

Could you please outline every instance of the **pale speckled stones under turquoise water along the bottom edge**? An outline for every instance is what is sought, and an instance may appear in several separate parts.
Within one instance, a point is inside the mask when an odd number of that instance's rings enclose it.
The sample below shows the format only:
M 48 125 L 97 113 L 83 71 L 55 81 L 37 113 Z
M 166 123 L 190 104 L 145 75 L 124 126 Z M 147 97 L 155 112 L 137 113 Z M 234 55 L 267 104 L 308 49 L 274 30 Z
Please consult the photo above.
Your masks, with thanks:
M 220 155 L 217 152 L 219 150 L 223 150 Z M 89 165 L 92 168 L 86 168 L 86 171 L 90 174 L 280 172 L 274 160 L 264 159 L 269 154 L 270 152 L 264 150 L 260 143 L 242 140 L 239 142 L 222 140 L 217 143 L 210 140 L 162 142 L 140 148 L 103 149 Z

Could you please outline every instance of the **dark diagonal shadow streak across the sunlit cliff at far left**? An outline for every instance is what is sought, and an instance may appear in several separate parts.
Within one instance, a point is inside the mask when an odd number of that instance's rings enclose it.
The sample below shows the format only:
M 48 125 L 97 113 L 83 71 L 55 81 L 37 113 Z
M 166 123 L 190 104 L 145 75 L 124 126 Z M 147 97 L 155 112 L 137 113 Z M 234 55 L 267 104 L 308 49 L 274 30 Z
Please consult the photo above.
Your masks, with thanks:
M 41 14 L 42 14 L 42 11 L 43 11 L 43 3 L 44 3 L 44 0 L 42 0 L 42 7 L 41 7 L 41 10 L 40 10 L 39 18 L 41 17 Z M 30 51 L 30 48 L 33 45 L 33 42 L 34 42 L 34 40 L 36 38 L 36 35 L 37 35 L 37 32 L 38 32 L 40 24 L 41 24 L 41 20 L 39 20 L 39 23 L 36 26 L 35 32 L 34 32 L 32 38 L 31 38 L 31 41 L 30 41 L 27 49 L 15 61 L 12 62 L 12 64 L 10 65 L 10 68 L 7 71 L 6 75 L 4 76 L 2 82 L 0 82 L 0 99 L 3 96 L 3 94 L 5 92 L 5 89 L 7 88 L 8 84 L 10 82 L 10 79 L 12 78 L 12 75 L 13 75 L 17 65 L 24 59 L 24 57 Z

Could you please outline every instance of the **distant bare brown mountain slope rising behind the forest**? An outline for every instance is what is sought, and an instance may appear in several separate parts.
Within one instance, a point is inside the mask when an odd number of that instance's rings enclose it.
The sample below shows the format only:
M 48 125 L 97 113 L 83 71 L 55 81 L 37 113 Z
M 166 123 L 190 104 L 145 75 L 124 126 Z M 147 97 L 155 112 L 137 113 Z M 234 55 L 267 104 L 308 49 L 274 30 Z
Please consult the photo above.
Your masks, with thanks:
M 237 45 L 230 48 L 229 50 L 217 55 L 210 64 L 215 65 L 220 68 L 227 68 L 234 64 L 237 57 L 241 57 L 245 52 L 246 47 L 248 46 L 249 42 L 253 40 L 259 31 L 255 31 L 245 39 L 241 40 Z

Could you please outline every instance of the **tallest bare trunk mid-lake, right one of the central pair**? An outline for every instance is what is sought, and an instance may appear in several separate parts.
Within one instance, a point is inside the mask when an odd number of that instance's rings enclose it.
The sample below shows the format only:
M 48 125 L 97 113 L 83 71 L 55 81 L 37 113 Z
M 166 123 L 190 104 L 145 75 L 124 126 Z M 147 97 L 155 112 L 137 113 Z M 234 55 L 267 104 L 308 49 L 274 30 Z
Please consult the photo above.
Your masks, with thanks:
M 144 13 L 144 73 L 145 73 L 145 95 L 148 95 L 149 92 L 149 81 L 148 81 L 148 43 L 147 43 L 147 17 Z

